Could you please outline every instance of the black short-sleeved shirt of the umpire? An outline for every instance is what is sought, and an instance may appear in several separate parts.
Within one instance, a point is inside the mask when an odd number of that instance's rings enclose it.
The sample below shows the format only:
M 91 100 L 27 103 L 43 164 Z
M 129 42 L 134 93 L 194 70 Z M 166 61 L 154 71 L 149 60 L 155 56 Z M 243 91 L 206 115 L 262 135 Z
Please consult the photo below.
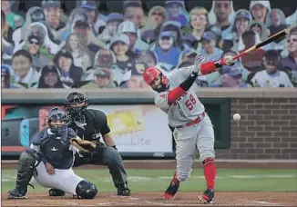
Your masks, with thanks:
M 85 115 L 87 123 L 84 126 L 85 130 L 78 127 L 74 122 L 69 125 L 77 133 L 77 136 L 88 141 L 95 141 L 100 138 L 100 133 L 102 136 L 110 133 L 108 118 L 105 113 L 95 109 L 87 109 Z

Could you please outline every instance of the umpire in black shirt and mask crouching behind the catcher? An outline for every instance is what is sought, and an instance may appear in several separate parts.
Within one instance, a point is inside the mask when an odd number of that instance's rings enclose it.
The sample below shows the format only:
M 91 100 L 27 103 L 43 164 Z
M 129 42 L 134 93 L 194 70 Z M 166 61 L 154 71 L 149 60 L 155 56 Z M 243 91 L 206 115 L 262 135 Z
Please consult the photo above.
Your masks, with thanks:
M 108 166 L 112 180 L 118 189 L 118 195 L 129 196 L 127 173 L 113 138 L 109 135 L 107 115 L 99 110 L 87 109 L 88 101 L 84 94 L 68 94 L 65 103 L 67 113 L 71 116 L 69 127 L 87 141 L 96 142 L 93 153 L 76 153 L 74 167 L 84 164 Z M 104 143 L 100 142 L 103 138 Z M 62 196 L 65 192 L 49 190 L 49 196 Z

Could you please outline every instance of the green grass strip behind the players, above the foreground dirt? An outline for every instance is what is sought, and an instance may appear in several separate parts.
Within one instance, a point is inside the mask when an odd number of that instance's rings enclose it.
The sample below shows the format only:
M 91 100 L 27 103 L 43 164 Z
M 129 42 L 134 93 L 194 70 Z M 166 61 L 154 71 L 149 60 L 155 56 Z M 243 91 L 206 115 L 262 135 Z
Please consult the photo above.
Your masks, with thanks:
M 115 192 L 115 187 L 108 169 L 89 170 L 77 169 L 77 175 L 97 185 L 99 192 Z M 132 192 L 164 192 L 171 179 L 173 170 L 139 170 L 128 169 L 129 187 Z M 15 187 L 16 170 L 2 170 L 2 192 Z M 216 179 L 216 191 L 240 192 L 297 192 L 296 170 L 270 169 L 219 169 Z M 243 177 L 245 176 L 245 177 Z M 33 183 L 36 192 L 47 189 Z M 191 178 L 180 186 L 181 192 L 203 191 L 205 181 L 201 170 L 194 170 Z M 29 187 L 29 191 L 33 192 Z

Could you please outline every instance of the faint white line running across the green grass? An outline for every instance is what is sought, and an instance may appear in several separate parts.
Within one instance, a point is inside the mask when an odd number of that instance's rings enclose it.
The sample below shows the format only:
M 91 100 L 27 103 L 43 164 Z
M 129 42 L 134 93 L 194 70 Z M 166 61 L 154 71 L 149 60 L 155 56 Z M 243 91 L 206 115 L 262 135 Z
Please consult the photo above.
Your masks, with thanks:
M 110 182 L 110 177 L 97 177 L 101 182 Z M 204 179 L 204 176 L 190 176 L 192 179 Z M 216 179 L 226 179 L 226 178 L 235 178 L 235 179 L 260 179 L 260 178 L 297 178 L 296 174 L 253 174 L 253 175 L 230 175 L 230 176 L 217 176 Z M 170 176 L 161 176 L 157 178 L 146 177 L 146 176 L 128 176 L 129 182 L 139 182 L 139 181 L 162 181 L 162 180 L 171 180 Z M 15 176 L 8 175 L 3 176 L 1 182 L 15 182 Z M 36 182 L 35 179 L 31 182 Z

